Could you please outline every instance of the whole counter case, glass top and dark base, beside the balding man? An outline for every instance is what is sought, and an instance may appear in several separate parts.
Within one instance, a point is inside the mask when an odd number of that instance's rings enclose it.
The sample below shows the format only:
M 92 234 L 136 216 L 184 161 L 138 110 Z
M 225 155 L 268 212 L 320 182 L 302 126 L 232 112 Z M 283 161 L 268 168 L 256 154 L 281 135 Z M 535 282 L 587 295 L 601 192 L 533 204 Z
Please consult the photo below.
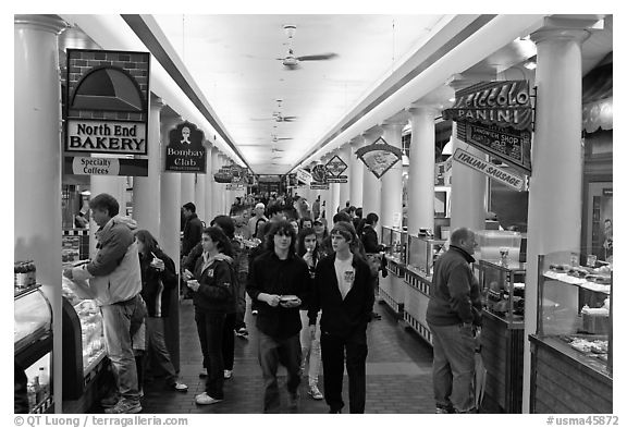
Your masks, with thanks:
M 521 413 L 526 265 L 479 260 L 474 267 L 485 304 L 481 328 L 485 395 L 505 413 Z

